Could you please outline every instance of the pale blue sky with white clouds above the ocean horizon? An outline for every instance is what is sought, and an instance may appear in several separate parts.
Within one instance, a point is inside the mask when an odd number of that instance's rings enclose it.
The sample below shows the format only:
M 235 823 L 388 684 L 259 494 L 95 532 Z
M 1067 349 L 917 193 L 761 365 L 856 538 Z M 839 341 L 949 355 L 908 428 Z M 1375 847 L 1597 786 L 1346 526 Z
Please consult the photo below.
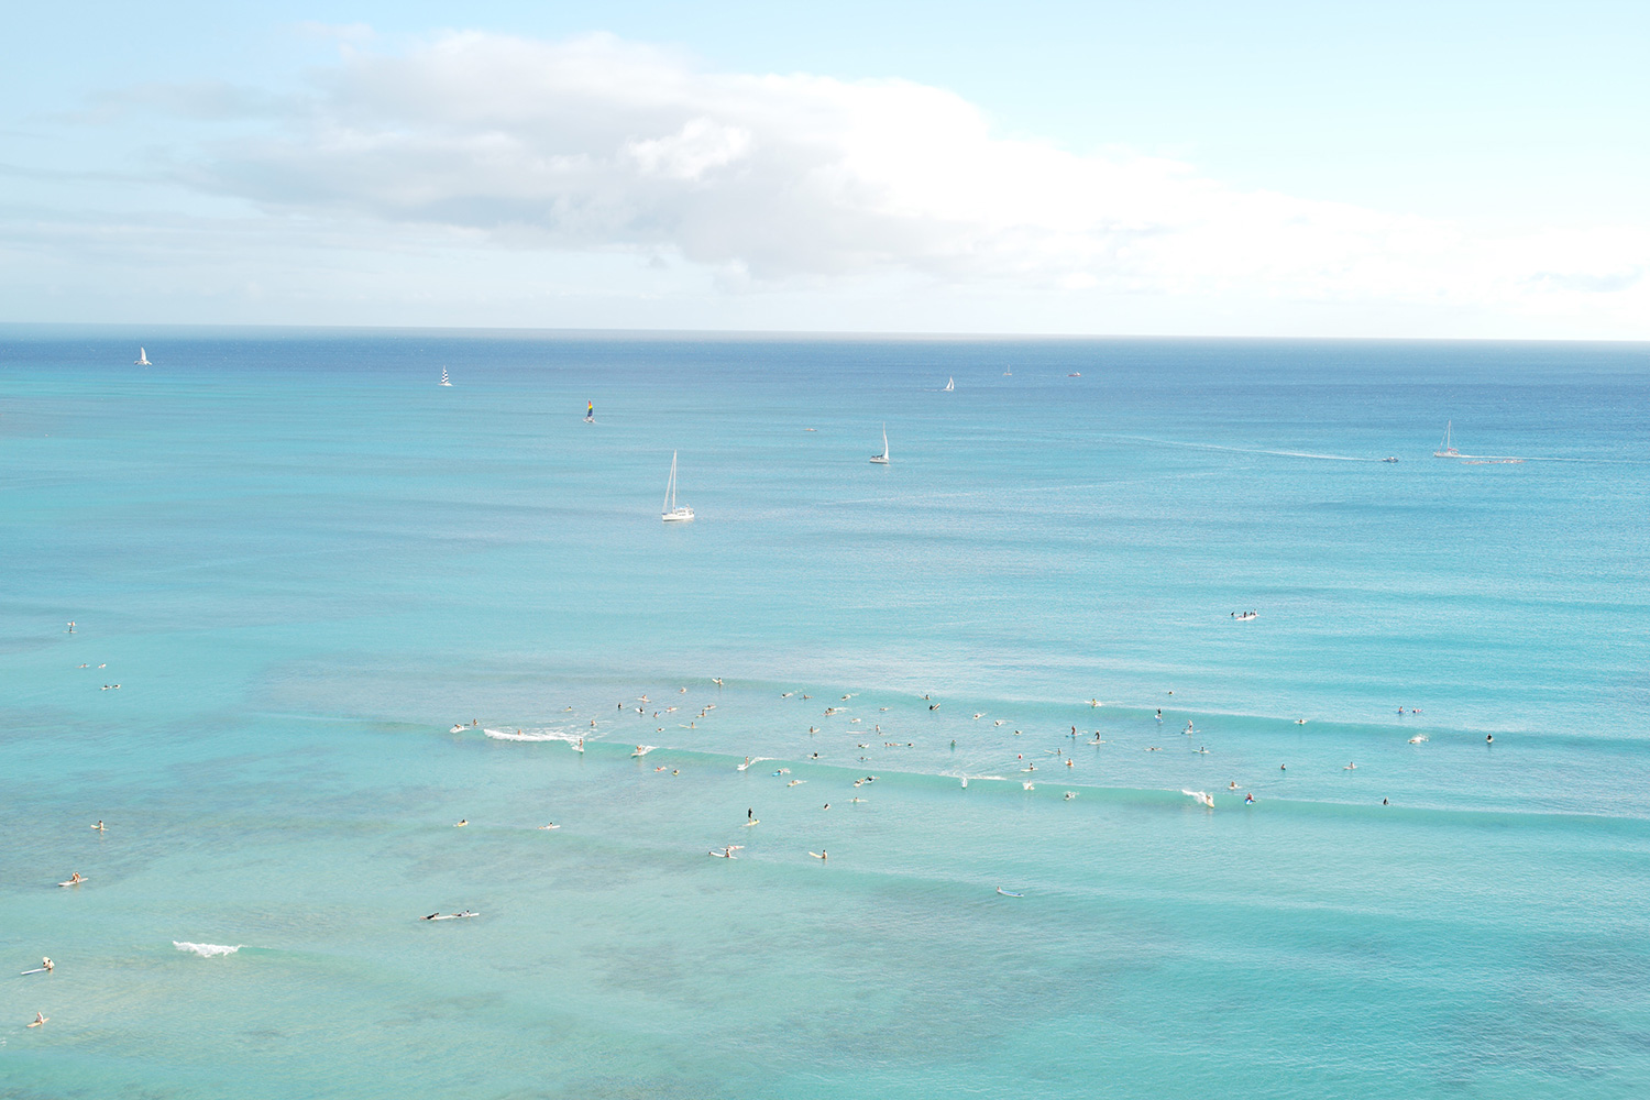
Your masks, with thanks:
M 0 322 L 1650 340 L 1643 0 L 0 26 Z

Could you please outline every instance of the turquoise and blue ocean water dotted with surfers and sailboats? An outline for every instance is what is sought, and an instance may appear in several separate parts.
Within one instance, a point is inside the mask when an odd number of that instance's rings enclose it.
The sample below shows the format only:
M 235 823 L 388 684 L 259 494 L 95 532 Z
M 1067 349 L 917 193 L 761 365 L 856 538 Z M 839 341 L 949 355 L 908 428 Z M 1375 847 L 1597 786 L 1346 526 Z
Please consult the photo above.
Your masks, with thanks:
M 1643 1095 L 1647 397 L 7 330 L 0 1095 Z

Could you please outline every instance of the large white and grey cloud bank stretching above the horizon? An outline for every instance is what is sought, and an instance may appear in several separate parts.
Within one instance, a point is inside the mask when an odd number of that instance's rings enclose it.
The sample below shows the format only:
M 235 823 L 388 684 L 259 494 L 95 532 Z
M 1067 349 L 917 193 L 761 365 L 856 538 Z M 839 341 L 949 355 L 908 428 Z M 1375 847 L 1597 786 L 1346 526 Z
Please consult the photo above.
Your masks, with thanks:
M 210 91 L 214 112 L 238 102 Z M 279 107 L 279 127 L 198 147 L 186 178 L 282 214 L 665 254 L 769 290 L 896 275 L 964 297 L 1546 312 L 1650 335 L 1650 226 L 1497 236 L 1244 191 L 1175 160 L 1005 139 L 977 106 L 909 81 L 454 33 L 346 49 L 309 96 L 252 101 L 249 122 Z

